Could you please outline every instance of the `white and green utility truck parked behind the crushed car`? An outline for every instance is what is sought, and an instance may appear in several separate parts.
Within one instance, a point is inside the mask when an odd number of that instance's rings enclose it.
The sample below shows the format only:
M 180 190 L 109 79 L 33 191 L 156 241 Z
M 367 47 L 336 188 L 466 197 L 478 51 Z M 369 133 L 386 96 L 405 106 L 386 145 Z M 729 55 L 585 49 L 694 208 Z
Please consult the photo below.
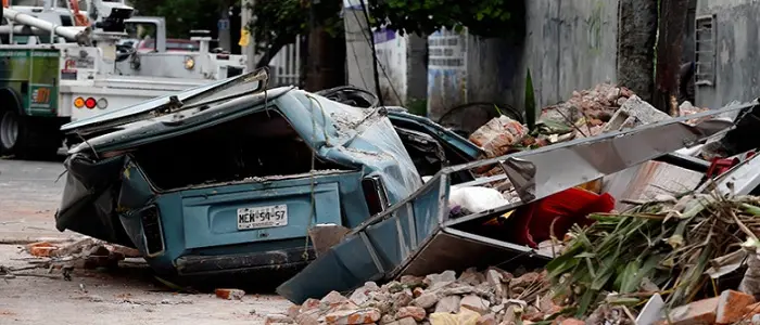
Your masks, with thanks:
M 20 2 L 2 3 L 0 156 L 54 155 L 64 123 L 245 73 L 245 56 L 212 53 L 207 31 L 193 31 L 200 51 L 166 52 L 164 18 L 132 16 L 124 0 Z M 140 24 L 154 51 L 117 46 Z

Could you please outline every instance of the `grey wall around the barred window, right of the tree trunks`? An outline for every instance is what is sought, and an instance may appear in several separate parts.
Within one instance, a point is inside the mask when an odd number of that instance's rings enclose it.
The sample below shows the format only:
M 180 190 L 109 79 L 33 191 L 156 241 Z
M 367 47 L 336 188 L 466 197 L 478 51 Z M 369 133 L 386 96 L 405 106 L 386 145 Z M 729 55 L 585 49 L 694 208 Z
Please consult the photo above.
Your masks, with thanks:
M 696 86 L 696 104 L 719 108 L 760 96 L 760 2 L 699 0 L 697 17 L 713 15 L 717 35 L 713 84 Z

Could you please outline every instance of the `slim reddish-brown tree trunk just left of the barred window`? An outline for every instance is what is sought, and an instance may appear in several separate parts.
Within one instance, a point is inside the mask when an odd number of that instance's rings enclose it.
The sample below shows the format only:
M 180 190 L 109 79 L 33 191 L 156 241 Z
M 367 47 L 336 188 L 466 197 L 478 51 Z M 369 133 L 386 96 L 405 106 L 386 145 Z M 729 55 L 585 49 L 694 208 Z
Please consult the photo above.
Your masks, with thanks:
M 657 75 L 653 104 L 658 109 L 677 114 L 681 51 L 686 30 L 688 0 L 661 0 L 660 35 L 657 43 Z

